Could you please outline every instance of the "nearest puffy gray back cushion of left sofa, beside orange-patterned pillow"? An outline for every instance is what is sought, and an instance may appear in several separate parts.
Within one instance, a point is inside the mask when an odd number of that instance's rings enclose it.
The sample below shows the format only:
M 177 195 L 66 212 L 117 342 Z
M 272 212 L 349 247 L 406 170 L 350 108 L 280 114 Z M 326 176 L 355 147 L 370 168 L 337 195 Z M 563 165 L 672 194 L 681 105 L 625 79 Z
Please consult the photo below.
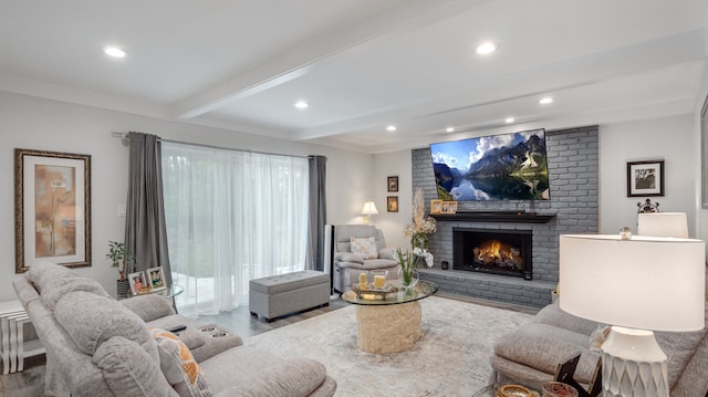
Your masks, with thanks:
M 114 336 L 93 355 L 108 388 L 116 396 L 177 396 L 165 379 L 159 363 L 138 344 Z

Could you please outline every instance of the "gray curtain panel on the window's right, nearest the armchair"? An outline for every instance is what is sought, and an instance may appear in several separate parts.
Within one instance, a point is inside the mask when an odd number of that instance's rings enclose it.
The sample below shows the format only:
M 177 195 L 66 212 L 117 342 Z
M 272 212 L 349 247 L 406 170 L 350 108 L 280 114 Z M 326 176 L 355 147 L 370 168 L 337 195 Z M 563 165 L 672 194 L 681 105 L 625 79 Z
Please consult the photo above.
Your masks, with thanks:
M 310 156 L 310 222 L 305 268 L 324 271 L 324 226 L 327 222 L 327 200 L 325 194 L 325 156 Z

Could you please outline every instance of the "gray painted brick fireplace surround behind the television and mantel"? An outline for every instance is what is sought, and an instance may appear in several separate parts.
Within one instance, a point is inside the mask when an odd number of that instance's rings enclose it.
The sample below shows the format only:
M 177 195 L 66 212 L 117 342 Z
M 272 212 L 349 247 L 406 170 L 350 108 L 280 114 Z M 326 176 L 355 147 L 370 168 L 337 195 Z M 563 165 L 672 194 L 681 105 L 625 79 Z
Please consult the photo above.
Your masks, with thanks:
M 458 202 L 458 213 L 525 211 L 552 216 L 551 219 L 538 223 L 523 220 L 480 220 L 473 217 L 438 219 L 437 231 L 430 238 L 435 265 L 431 269 L 419 269 L 423 280 L 437 283 L 440 292 L 475 299 L 530 307 L 543 307 L 551 303 L 551 291 L 555 289 L 559 276 L 559 236 L 596 233 L 598 229 L 597 126 L 546 130 L 545 143 L 550 200 Z M 437 198 L 430 149 L 414 149 L 412 157 L 413 189 L 423 189 L 426 211 L 429 211 L 430 200 Z M 533 234 L 532 280 L 452 270 L 452 228 L 530 230 Z M 442 261 L 449 263 L 448 270 L 440 268 Z

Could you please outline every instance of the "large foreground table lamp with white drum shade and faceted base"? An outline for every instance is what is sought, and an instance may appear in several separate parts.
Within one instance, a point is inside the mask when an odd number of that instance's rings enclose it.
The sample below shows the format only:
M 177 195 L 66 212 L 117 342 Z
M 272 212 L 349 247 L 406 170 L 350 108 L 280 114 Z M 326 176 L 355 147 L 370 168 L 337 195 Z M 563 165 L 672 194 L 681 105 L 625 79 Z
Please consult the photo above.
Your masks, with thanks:
M 603 234 L 560 237 L 560 307 L 612 325 L 602 345 L 604 396 L 668 397 L 654 331 L 705 324 L 705 242 Z

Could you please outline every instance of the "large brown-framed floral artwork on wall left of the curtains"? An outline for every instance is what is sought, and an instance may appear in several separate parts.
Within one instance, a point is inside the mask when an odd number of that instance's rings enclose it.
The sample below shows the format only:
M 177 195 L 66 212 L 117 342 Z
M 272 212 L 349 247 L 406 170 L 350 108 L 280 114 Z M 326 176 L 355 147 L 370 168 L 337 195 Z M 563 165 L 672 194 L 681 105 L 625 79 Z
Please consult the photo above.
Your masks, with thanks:
M 15 273 L 91 265 L 91 156 L 14 149 Z

